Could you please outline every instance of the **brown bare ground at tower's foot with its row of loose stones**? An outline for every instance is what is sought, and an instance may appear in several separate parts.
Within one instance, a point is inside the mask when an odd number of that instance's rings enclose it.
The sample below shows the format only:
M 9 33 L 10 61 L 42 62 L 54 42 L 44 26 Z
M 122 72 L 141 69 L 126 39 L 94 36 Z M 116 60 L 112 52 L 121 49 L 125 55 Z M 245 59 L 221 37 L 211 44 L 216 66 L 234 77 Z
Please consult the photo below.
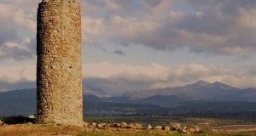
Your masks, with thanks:
M 36 136 L 36 135 L 79 135 L 81 133 L 123 133 L 137 132 L 143 130 L 158 130 L 165 133 L 196 133 L 200 132 L 200 127 L 184 127 L 180 123 L 173 123 L 166 126 L 151 126 L 133 123 L 87 123 L 83 127 L 61 126 L 55 123 L 35 124 L 33 120 L 23 116 L 12 116 L 3 118 L 0 121 L 0 136 Z

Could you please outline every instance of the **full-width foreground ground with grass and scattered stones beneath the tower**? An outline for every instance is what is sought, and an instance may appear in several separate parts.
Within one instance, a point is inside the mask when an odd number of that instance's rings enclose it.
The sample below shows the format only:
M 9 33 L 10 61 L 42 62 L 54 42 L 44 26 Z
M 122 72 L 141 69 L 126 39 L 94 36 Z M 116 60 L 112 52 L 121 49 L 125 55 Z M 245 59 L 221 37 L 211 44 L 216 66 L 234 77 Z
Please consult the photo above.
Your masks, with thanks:
M 83 127 L 61 126 L 59 124 L 35 124 L 26 122 L 20 116 L 5 118 L 0 121 L 0 136 L 48 136 L 48 135 L 237 135 L 237 132 L 249 131 L 247 136 L 256 135 L 256 125 L 236 125 L 223 127 L 210 127 L 208 130 L 201 130 L 198 126 L 186 127 L 181 123 L 171 123 L 165 126 L 143 125 L 137 122 L 133 123 L 96 123 L 84 122 Z M 23 124 L 17 124 L 23 123 Z M 207 133 L 206 133 L 207 131 Z M 211 133 L 211 134 L 209 134 Z M 230 133 L 230 134 L 229 134 Z M 239 135 L 239 133 L 238 133 Z

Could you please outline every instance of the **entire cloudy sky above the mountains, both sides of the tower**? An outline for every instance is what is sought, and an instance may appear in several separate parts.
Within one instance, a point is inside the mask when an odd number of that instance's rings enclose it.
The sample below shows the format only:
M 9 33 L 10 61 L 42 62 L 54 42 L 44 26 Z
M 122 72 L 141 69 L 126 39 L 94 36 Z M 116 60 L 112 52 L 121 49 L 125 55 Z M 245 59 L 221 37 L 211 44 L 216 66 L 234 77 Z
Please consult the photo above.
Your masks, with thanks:
M 2 92 L 36 88 L 41 2 L 0 0 Z M 256 88 L 255 0 L 79 2 L 86 87 L 112 95 L 199 80 Z

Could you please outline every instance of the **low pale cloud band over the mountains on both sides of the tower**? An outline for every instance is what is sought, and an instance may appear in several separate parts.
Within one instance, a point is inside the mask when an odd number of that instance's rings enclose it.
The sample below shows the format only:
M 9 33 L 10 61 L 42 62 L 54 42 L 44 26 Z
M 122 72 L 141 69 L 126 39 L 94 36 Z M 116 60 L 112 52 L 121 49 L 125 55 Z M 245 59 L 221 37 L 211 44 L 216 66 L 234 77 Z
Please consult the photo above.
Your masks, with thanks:
M 152 88 L 172 88 L 194 83 L 224 82 L 236 88 L 256 88 L 256 65 L 230 70 L 224 65 L 165 66 L 112 64 L 109 62 L 84 64 L 83 82 L 90 88 L 101 88 L 109 94 L 120 95 L 126 91 Z M 34 88 L 36 65 L 9 66 L 0 68 L 1 88 Z M 27 86 L 26 86 L 27 85 Z

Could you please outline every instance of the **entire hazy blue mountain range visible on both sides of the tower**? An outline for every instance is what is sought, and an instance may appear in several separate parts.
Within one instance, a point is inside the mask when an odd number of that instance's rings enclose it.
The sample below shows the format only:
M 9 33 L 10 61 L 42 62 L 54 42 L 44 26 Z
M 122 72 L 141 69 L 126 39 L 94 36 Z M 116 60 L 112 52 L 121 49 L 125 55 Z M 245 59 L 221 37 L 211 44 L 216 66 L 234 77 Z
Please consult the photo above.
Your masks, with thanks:
M 199 81 L 183 87 L 126 92 L 111 97 L 101 89 L 83 88 L 84 114 L 191 114 L 256 111 L 256 88 L 233 88 Z M 36 89 L 0 92 L 0 116 L 36 113 Z

